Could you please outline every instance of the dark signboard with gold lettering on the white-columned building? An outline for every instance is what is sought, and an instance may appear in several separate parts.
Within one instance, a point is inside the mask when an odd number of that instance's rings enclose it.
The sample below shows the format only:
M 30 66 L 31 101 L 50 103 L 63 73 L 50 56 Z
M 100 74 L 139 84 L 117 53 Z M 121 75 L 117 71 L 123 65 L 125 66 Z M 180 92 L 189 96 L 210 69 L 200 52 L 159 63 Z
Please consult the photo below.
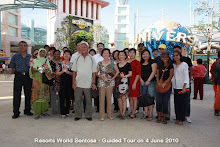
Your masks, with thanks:
M 74 25 L 75 31 L 89 32 L 90 27 L 93 25 L 93 20 L 73 17 L 72 24 Z

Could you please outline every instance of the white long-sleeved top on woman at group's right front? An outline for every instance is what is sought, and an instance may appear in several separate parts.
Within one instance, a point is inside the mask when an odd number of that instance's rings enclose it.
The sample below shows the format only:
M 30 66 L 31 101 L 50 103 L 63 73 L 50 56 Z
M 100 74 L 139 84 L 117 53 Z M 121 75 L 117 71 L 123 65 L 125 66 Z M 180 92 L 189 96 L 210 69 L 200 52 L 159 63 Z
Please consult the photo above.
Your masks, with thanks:
M 174 76 L 172 86 L 174 89 L 183 89 L 183 84 L 186 83 L 186 88 L 189 88 L 189 70 L 188 65 L 182 62 L 180 65 L 173 64 Z

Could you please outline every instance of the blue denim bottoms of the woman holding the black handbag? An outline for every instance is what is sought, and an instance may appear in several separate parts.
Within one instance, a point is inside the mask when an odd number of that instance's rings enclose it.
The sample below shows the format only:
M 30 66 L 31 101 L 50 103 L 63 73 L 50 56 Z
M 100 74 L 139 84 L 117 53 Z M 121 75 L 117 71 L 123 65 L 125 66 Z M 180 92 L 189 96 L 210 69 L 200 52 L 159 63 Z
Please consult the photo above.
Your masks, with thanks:
M 148 86 L 141 85 L 141 95 L 149 94 L 150 96 L 155 96 L 156 93 L 156 81 L 150 82 Z

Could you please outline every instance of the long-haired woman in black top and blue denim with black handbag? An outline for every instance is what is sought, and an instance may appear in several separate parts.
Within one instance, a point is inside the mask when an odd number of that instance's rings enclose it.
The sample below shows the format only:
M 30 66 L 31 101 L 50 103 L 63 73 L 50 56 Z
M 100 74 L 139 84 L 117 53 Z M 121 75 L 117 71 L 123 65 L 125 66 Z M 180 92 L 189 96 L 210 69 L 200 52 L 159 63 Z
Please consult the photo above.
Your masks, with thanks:
M 151 54 L 149 50 L 143 50 L 141 53 L 141 95 L 144 96 L 146 94 L 151 97 L 155 96 L 156 92 L 156 77 L 155 74 L 157 72 L 157 63 L 151 59 Z M 145 114 L 141 119 L 145 119 L 148 117 L 149 110 L 149 118 L 147 120 L 153 120 L 153 104 L 149 104 L 144 107 Z

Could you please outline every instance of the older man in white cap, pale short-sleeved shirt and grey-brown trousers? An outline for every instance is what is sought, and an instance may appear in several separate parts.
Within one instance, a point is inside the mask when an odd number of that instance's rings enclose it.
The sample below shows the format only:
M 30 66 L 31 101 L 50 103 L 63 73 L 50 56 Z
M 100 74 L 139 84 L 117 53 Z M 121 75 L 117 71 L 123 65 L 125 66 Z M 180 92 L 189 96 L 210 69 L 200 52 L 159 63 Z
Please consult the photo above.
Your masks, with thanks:
M 85 41 L 80 43 L 81 54 L 73 62 L 73 84 L 75 90 L 75 121 L 82 118 L 82 95 L 86 99 L 85 117 L 92 121 L 92 99 L 91 88 L 96 89 L 96 63 L 92 56 L 89 55 L 89 45 Z

